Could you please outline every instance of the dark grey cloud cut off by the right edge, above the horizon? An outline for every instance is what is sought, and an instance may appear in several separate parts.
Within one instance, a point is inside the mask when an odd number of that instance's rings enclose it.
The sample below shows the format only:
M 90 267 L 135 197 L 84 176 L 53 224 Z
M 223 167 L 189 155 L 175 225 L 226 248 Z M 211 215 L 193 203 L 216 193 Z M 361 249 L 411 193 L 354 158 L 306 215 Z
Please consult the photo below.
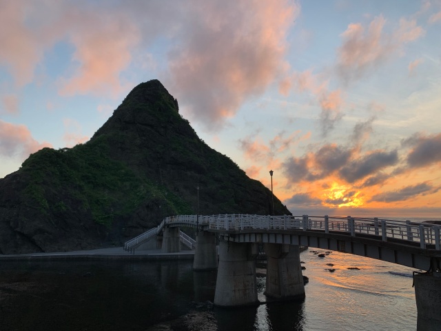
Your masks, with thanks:
M 407 164 L 411 168 L 420 168 L 441 161 L 441 133 L 422 137 L 413 135 L 402 143 L 413 146 L 407 155 Z

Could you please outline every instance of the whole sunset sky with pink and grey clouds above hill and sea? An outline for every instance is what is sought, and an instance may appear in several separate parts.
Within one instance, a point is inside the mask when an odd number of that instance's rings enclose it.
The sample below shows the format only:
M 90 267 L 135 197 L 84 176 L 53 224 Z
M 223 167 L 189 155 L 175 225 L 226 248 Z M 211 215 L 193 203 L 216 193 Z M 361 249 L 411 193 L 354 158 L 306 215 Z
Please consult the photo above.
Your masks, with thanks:
M 440 32 L 441 0 L 0 0 L 0 178 L 159 79 L 293 214 L 441 217 Z

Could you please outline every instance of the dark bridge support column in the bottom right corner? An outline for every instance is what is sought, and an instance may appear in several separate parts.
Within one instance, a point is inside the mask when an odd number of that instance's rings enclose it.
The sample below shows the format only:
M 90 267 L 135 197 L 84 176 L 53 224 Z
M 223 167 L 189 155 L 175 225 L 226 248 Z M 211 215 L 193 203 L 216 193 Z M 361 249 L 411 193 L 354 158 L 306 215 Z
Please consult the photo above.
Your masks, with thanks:
M 441 330 L 441 272 L 415 274 L 413 283 L 418 310 L 417 330 Z

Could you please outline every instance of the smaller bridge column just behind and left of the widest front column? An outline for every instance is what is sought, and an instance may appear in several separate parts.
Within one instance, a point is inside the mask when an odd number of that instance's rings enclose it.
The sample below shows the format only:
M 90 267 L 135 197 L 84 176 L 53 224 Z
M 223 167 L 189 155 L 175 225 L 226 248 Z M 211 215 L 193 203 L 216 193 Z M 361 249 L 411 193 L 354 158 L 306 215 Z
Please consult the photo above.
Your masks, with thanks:
M 218 268 L 216 234 L 200 231 L 196 233 L 193 270 L 215 270 Z

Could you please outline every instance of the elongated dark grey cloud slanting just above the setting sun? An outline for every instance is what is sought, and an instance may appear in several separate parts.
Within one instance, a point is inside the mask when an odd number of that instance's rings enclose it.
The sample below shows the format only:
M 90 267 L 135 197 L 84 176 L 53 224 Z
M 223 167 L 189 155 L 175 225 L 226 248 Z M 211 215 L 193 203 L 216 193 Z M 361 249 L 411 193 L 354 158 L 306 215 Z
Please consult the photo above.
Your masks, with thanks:
M 395 165 L 397 162 L 398 152 L 396 150 L 392 152 L 373 152 L 361 159 L 349 162 L 340 170 L 340 176 L 348 183 L 353 183 L 382 168 Z

